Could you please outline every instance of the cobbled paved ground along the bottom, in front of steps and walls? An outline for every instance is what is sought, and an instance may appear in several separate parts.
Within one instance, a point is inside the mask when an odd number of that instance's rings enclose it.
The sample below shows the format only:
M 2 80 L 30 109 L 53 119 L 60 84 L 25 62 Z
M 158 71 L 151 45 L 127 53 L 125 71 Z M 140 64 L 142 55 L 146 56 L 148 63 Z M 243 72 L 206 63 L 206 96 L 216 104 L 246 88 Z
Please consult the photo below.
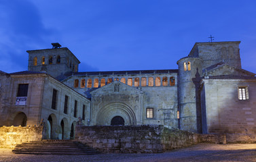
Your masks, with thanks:
M 16 155 L 0 148 L 0 161 L 255 161 L 256 144 L 196 144 L 159 154 Z

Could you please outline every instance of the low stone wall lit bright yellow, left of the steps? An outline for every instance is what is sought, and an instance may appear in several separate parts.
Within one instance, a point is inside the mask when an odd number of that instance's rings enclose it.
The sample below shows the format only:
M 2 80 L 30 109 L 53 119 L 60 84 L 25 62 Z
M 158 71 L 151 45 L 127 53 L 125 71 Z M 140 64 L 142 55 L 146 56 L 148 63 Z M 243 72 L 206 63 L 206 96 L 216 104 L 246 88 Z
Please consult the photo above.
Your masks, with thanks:
M 43 126 L 0 127 L 0 148 L 14 148 L 16 144 L 42 139 Z

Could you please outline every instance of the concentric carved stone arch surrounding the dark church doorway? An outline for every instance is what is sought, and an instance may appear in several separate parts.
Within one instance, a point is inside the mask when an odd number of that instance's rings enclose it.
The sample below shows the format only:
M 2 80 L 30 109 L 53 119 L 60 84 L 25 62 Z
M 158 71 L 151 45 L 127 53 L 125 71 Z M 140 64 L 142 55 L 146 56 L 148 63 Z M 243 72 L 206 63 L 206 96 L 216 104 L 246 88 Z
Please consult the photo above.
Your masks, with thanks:
M 96 125 L 110 126 L 111 119 L 120 116 L 124 119 L 124 125 L 136 125 L 136 116 L 134 111 L 124 103 L 109 103 L 102 107 L 96 117 Z

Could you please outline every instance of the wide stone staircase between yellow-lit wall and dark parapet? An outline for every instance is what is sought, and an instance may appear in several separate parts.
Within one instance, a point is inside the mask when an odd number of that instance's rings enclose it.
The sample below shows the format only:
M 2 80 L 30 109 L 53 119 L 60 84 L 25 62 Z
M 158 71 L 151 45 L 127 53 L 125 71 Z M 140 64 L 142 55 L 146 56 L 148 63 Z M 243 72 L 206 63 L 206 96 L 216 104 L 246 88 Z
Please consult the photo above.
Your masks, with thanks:
M 17 144 L 12 153 L 31 155 L 95 155 L 99 152 L 90 146 L 72 140 L 42 140 Z

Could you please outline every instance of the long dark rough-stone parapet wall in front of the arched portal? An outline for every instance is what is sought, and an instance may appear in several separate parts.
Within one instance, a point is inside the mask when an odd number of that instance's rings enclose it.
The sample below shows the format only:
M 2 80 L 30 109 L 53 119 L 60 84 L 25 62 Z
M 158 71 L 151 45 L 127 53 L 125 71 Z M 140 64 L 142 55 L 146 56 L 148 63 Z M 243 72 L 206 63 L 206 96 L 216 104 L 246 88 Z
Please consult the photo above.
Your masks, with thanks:
M 105 153 L 162 153 L 201 142 L 200 134 L 166 128 L 143 126 L 77 126 L 75 140 Z M 215 142 L 216 138 L 203 138 Z

